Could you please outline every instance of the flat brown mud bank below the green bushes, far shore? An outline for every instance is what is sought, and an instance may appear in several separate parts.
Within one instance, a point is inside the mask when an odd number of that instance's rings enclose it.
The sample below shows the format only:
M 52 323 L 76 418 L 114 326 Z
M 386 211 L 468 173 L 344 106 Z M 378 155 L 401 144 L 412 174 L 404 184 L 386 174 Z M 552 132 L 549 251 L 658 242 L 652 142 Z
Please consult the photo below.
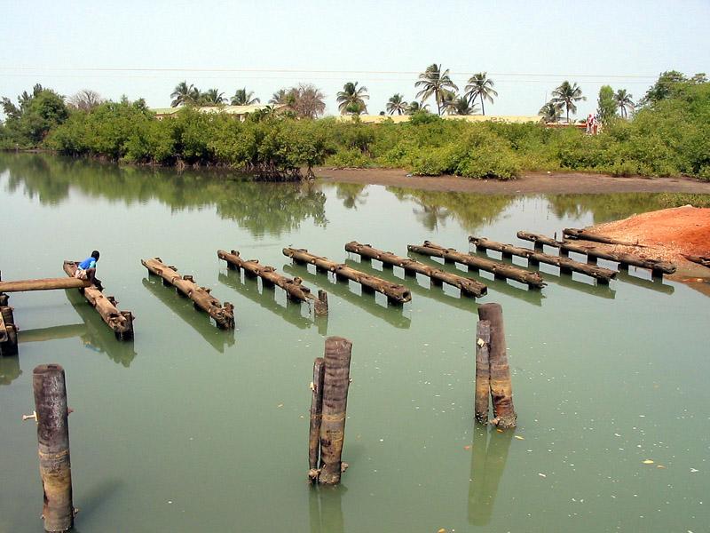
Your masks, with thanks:
M 345 182 L 484 195 L 688 193 L 710 195 L 710 182 L 675 178 L 617 178 L 587 172 L 525 172 L 519 179 L 409 176 L 402 169 L 313 169 L 325 183 Z

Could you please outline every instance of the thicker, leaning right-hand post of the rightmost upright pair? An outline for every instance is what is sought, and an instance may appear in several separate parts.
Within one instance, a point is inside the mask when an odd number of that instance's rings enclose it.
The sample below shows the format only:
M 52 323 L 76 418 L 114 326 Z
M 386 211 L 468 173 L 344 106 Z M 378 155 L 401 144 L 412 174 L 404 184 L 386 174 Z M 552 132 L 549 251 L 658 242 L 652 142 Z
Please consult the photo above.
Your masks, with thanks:
M 491 368 L 491 396 L 493 398 L 492 423 L 501 429 L 516 426 L 513 407 L 513 386 L 510 381 L 508 353 L 505 346 L 503 309 L 500 304 L 478 306 L 478 318 L 490 322 L 491 343 L 488 354 Z

